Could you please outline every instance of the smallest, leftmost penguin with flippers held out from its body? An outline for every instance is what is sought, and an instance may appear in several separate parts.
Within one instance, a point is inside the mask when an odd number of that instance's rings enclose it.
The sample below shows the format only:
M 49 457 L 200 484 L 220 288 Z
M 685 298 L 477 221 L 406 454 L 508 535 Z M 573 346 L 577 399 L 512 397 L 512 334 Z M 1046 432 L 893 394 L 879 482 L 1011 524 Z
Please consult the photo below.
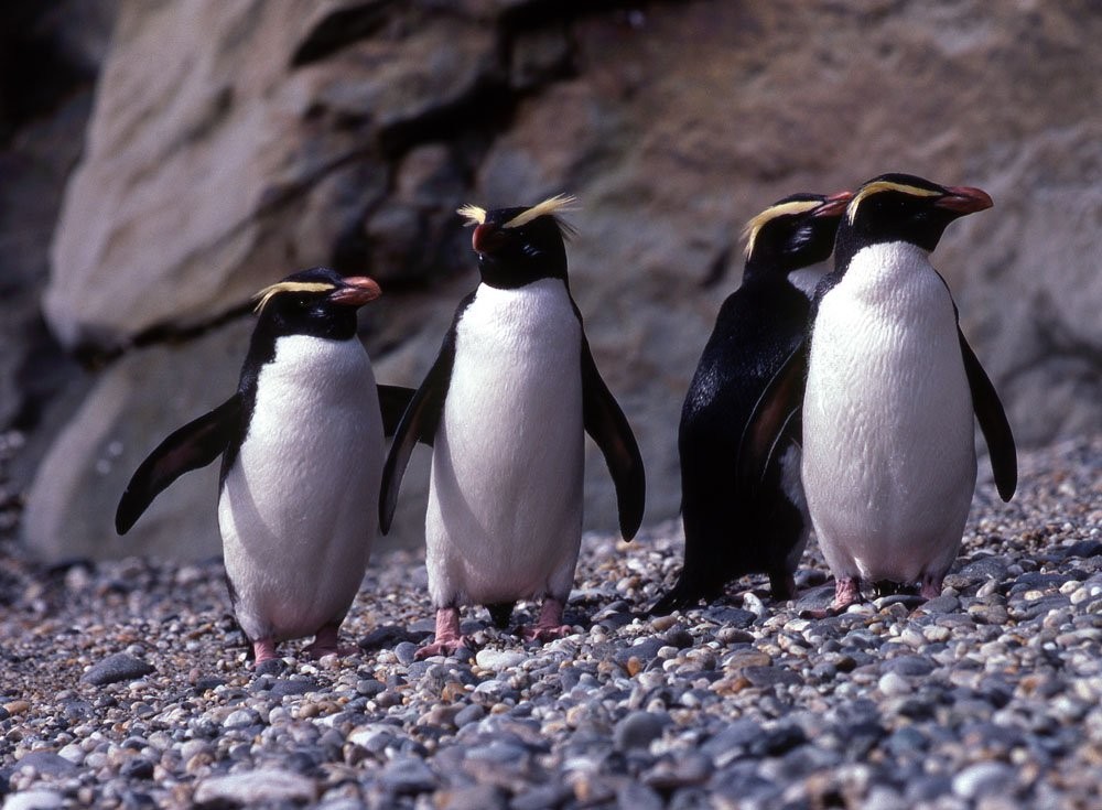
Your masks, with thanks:
M 307 652 L 346 654 L 337 631 L 378 527 L 383 433 L 411 389 L 376 386 L 356 336 L 369 278 L 325 268 L 264 288 L 237 392 L 165 439 L 119 501 L 125 534 L 184 473 L 222 456 L 218 526 L 237 622 L 258 670 L 279 641 L 314 636 Z

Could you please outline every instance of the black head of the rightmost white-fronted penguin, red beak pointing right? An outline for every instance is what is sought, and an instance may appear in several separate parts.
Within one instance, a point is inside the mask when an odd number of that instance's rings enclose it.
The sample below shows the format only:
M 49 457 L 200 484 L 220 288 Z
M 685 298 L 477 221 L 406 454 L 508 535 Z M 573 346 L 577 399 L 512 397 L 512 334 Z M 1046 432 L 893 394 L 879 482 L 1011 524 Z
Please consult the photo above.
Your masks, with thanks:
M 942 186 L 912 174 L 882 174 L 864 183 L 850 201 L 839 227 L 835 261 L 847 262 L 861 248 L 879 242 L 905 241 L 931 251 L 949 223 L 992 205 L 980 188 Z

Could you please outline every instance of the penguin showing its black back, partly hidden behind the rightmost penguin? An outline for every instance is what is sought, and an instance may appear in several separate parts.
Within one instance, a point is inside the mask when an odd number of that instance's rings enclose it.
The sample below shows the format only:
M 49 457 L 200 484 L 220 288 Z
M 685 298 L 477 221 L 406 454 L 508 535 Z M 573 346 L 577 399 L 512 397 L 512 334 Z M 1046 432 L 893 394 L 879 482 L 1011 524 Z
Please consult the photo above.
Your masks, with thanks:
M 755 572 L 769 575 L 775 598 L 796 595 L 792 574 L 810 527 L 798 424 L 760 483 L 739 475 L 737 457 L 755 404 L 807 331 L 811 302 L 789 273 L 827 260 L 851 196 L 793 194 L 743 231 L 743 283 L 720 309 L 681 409 L 684 566 L 651 614 L 711 602 Z

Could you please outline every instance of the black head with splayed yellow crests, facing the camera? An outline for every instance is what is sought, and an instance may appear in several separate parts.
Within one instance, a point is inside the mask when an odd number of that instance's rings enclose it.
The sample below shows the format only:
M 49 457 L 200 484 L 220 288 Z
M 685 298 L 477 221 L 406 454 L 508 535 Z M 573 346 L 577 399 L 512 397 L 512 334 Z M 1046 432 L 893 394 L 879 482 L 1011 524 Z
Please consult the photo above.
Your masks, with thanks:
M 478 253 L 483 283 L 511 289 L 548 278 L 565 282 L 564 241 L 573 230 L 555 213 L 573 202 L 560 194 L 530 208 L 460 208 L 475 226 L 471 245 Z

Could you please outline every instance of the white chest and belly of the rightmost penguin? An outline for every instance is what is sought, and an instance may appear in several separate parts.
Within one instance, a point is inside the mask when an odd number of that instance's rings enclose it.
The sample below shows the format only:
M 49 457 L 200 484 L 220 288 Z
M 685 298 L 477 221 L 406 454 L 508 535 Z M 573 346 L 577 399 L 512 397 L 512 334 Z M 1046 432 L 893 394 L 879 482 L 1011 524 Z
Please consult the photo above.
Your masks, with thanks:
M 973 419 L 952 299 L 926 252 L 862 249 L 820 302 L 803 403 L 803 485 L 835 575 L 948 570 L 975 486 Z

